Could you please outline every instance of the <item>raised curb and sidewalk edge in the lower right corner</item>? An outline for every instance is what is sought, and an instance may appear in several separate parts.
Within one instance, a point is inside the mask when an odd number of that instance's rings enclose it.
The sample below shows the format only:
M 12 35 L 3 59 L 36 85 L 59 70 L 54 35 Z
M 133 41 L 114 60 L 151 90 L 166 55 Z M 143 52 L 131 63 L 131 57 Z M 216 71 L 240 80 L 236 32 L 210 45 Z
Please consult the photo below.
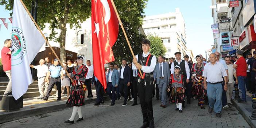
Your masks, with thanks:
M 246 98 L 247 102 L 245 103 L 238 103 L 237 100 L 234 99 L 231 99 L 231 102 L 233 103 L 233 106 L 235 106 L 240 114 L 244 117 L 244 119 L 248 122 L 248 124 L 252 128 L 256 128 L 256 120 L 251 120 L 249 117 L 252 115 L 250 110 L 252 109 L 252 97 L 246 96 Z M 250 112 L 248 110 L 250 110 Z

